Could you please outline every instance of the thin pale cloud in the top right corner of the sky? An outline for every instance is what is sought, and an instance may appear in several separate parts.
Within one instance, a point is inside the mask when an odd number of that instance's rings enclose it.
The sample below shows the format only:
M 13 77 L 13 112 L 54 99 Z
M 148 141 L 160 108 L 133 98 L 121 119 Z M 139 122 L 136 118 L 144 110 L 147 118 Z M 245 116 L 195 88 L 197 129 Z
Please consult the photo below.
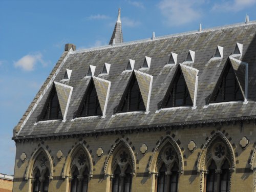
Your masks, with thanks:
M 223 1 L 221 4 L 215 4 L 212 7 L 213 11 L 241 11 L 248 7 L 256 4 L 256 0 L 233 0 L 233 1 Z

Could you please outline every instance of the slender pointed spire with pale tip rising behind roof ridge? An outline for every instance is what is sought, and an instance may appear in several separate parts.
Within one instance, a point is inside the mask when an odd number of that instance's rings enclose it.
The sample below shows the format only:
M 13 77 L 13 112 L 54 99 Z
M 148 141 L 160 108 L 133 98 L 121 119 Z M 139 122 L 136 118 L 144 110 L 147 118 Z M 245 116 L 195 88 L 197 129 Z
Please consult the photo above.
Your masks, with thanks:
M 114 41 L 114 39 L 115 39 L 115 41 Z M 113 42 L 114 42 L 114 44 L 120 44 L 121 42 L 123 42 L 123 33 L 122 33 L 122 26 L 121 26 L 121 9 L 120 8 L 118 9 L 117 21 L 116 21 L 115 29 L 112 33 L 109 45 L 113 45 Z

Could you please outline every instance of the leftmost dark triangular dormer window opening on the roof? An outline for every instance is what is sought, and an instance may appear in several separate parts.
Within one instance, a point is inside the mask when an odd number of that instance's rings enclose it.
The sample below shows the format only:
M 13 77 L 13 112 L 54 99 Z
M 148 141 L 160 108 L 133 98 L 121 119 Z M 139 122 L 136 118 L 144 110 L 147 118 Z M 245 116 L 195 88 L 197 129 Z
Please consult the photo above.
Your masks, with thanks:
M 39 118 L 40 121 L 63 119 L 61 110 L 60 110 L 58 95 L 57 95 L 54 84 L 47 98 L 44 109 L 42 110 L 42 113 L 39 117 L 40 117 Z

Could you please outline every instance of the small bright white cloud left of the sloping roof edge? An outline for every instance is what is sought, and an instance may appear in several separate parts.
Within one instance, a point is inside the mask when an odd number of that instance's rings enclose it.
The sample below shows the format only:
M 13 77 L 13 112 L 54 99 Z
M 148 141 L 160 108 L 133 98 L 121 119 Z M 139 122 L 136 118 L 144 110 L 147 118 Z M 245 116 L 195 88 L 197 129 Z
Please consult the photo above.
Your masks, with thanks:
M 35 65 L 41 63 L 42 66 L 47 66 L 49 62 L 42 59 L 42 54 L 28 54 L 20 58 L 18 61 L 14 61 L 14 67 L 22 68 L 24 71 L 33 71 Z

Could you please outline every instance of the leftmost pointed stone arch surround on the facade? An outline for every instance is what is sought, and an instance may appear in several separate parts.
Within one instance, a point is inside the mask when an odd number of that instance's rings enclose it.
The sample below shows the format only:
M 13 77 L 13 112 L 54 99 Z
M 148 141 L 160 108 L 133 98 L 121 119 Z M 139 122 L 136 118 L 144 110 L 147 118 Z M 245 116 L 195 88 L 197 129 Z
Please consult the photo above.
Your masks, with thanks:
M 28 163 L 28 166 L 27 166 L 27 169 L 26 169 L 26 173 L 25 173 L 25 179 L 26 180 L 28 180 L 30 178 L 33 178 L 33 176 L 32 176 L 33 169 L 36 168 L 36 167 L 34 167 L 34 165 L 35 165 L 35 162 L 37 160 L 37 157 L 39 155 L 41 155 L 41 153 L 43 153 L 45 155 L 45 157 L 47 158 L 47 160 L 48 160 L 48 165 L 49 165 L 48 169 L 49 169 L 49 172 L 50 172 L 49 179 L 53 178 L 53 162 L 52 162 L 51 155 L 49 154 L 49 152 L 47 151 L 45 146 L 40 146 L 38 148 L 38 150 L 36 150 L 33 153 L 33 155 L 31 156 L 31 158 L 29 160 L 29 163 Z

